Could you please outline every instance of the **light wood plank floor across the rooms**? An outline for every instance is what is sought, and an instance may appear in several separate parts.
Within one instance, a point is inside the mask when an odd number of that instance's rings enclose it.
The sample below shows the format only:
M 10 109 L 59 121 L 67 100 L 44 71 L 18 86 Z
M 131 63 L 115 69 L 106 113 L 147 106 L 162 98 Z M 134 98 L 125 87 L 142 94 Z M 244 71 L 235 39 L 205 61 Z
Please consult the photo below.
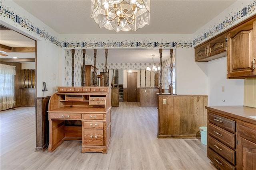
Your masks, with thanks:
M 111 110 L 108 154 L 80 153 L 65 141 L 54 152 L 35 152 L 35 107 L 0 113 L 1 170 L 214 170 L 200 139 L 157 139 L 157 108 L 120 102 Z

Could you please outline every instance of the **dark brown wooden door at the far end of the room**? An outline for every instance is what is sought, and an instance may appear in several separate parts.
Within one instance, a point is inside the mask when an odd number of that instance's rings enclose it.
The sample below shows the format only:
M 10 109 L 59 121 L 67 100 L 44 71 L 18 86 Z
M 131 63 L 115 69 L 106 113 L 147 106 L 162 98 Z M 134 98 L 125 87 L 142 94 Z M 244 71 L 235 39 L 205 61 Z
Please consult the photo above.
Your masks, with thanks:
M 137 72 L 127 73 L 127 102 L 137 102 Z

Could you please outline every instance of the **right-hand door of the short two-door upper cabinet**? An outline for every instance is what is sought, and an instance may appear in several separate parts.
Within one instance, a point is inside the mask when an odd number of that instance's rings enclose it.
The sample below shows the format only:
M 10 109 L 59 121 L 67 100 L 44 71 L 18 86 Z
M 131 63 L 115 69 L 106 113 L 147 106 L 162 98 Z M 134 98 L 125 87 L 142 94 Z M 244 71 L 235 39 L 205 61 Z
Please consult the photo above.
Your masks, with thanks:
M 217 55 L 226 51 L 226 38 L 224 35 L 210 41 L 208 45 L 208 57 Z

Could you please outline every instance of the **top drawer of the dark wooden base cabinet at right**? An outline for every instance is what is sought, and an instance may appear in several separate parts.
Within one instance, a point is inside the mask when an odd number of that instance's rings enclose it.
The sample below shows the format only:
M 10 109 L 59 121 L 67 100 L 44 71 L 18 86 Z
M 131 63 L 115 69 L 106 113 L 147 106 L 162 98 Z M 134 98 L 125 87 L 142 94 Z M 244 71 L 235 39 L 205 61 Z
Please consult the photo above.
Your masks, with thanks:
M 233 120 L 227 119 L 225 117 L 222 117 L 213 113 L 208 113 L 208 120 L 210 121 L 210 123 L 213 123 L 218 127 L 222 127 L 227 131 L 235 132 L 236 130 L 236 122 Z

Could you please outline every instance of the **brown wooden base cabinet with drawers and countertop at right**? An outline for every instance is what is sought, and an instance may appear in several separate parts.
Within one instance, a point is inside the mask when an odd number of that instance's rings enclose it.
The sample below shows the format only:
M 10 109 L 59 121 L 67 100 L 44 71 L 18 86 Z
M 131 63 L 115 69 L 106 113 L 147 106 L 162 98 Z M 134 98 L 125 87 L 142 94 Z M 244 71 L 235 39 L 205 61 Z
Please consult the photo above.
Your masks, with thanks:
M 207 157 L 220 170 L 256 167 L 256 108 L 206 106 Z

